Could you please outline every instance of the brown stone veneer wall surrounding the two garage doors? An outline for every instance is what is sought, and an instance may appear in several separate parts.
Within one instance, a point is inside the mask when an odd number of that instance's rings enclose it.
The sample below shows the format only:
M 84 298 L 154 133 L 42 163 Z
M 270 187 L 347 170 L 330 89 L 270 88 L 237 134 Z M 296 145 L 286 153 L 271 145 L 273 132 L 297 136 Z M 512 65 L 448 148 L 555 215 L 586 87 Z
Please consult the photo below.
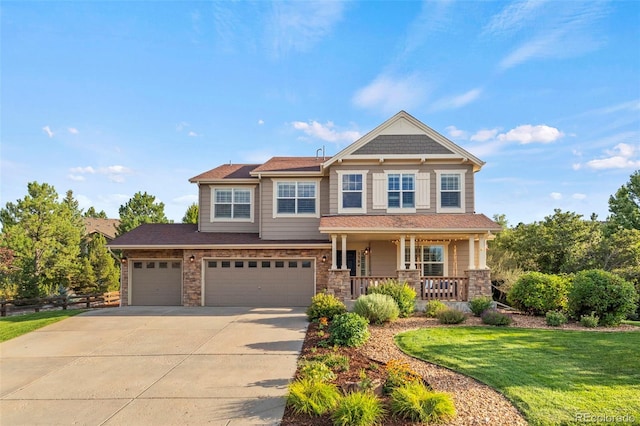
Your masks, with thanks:
M 182 305 L 200 306 L 202 300 L 202 260 L 205 258 L 244 258 L 244 259 L 284 259 L 315 258 L 316 293 L 326 290 L 329 283 L 329 261 L 323 263 L 322 256 L 331 258 L 331 250 L 325 249 L 224 249 L 224 250 L 129 250 L 124 256 L 135 259 L 182 259 Z M 190 258 L 194 256 L 194 261 Z M 122 288 L 120 298 L 122 306 L 128 303 L 128 269 L 122 268 Z M 311 301 L 309 301 L 311 302 Z

